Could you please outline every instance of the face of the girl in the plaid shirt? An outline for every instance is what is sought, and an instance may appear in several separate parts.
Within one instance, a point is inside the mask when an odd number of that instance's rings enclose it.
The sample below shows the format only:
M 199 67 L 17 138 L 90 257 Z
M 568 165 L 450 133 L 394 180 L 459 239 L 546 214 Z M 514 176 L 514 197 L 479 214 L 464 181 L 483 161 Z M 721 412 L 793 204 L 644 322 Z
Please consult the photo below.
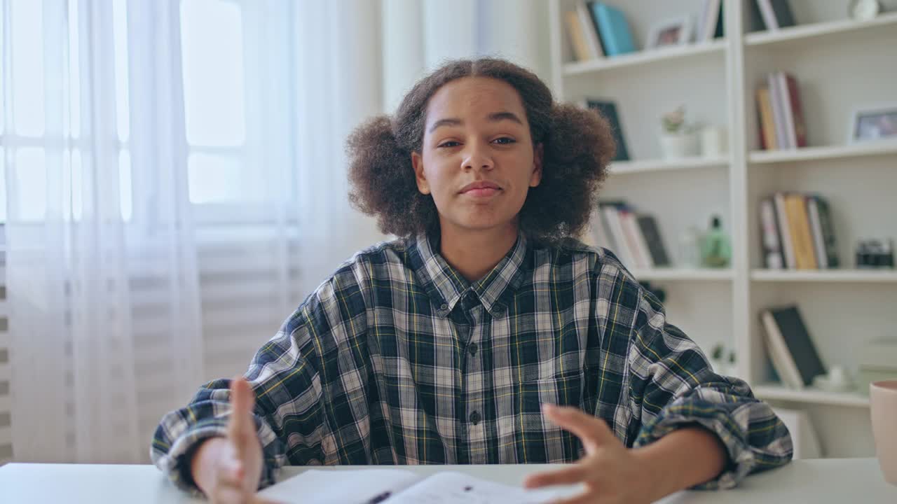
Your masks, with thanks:
M 457 79 L 432 95 L 426 117 L 412 163 L 443 233 L 516 230 L 527 191 L 542 178 L 542 145 L 533 145 L 517 90 L 498 79 Z

